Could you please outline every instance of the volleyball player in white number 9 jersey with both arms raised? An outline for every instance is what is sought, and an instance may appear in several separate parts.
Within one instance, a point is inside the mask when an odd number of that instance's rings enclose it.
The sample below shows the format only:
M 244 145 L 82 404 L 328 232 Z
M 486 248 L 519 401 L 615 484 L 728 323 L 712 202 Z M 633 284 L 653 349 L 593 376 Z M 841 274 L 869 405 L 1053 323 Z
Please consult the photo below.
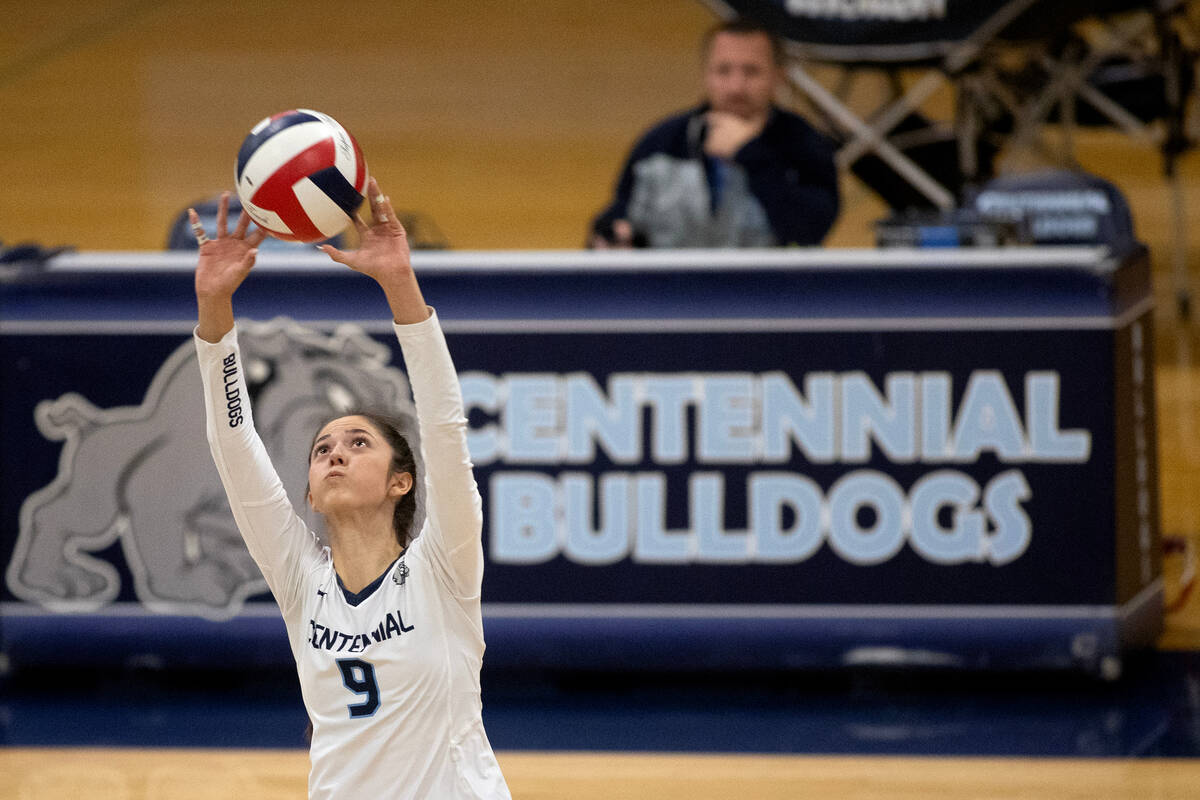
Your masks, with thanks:
M 216 239 L 194 212 L 196 349 L 208 437 L 234 518 L 287 622 L 312 721 L 310 798 L 509 798 L 480 717 L 482 510 L 462 396 L 409 261 L 404 229 L 372 179 L 373 223 L 331 259 L 373 278 L 391 307 L 416 403 L 426 513 L 413 519 L 415 464 L 378 415 L 340 416 L 313 438 L 308 497 L 324 548 L 296 515 L 254 432 L 233 294 L 262 235 L 242 212 Z

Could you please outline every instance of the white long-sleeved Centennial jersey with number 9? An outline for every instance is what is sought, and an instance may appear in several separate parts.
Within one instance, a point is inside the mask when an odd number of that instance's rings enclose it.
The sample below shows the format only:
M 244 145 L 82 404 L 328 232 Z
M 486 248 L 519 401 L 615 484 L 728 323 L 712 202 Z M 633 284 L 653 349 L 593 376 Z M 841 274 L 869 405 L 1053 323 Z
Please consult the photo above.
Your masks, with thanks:
M 238 528 L 278 602 L 312 721 L 308 796 L 509 798 L 480 716 L 482 504 L 457 377 L 436 313 L 396 325 L 426 481 L 420 535 L 343 593 L 251 415 L 236 331 L 196 338 L 208 438 Z

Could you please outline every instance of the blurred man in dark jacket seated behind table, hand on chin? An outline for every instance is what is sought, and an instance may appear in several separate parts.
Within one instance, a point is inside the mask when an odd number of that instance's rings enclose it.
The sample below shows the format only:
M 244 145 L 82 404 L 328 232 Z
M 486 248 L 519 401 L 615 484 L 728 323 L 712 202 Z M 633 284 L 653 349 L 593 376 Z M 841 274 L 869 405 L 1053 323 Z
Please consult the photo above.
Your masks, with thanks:
M 749 20 L 703 40 L 704 102 L 634 146 L 589 246 L 818 245 L 838 216 L 834 145 L 773 98 L 782 46 Z

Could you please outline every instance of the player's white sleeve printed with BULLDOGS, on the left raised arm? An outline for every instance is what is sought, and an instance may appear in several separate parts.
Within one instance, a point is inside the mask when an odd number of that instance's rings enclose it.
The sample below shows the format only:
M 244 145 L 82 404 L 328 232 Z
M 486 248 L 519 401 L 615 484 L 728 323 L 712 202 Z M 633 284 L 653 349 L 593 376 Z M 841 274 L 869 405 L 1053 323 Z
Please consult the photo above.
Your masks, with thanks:
M 320 547 L 288 500 L 250 409 L 236 329 L 220 342 L 194 336 L 204 383 L 206 432 L 212 461 L 251 557 L 266 578 L 284 618 L 299 602 L 300 579 Z

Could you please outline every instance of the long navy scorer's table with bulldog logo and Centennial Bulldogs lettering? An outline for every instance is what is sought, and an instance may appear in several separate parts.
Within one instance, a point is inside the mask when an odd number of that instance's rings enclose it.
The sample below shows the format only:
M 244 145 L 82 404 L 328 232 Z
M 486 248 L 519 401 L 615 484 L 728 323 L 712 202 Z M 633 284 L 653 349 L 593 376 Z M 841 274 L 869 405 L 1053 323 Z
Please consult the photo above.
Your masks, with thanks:
M 887 645 L 1054 664 L 1145 640 L 1162 591 L 1146 267 L 1067 253 L 1010 270 L 872 253 L 757 271 L 431 265 L 484 497 L 490 652 L 644 666 L 674 642 L 697 663 L 767 666 Z M 242 637 L 286 658 L 204 439 L 190 273 L 107 276 L 114 294 L 170 297 L 151 313 L 96 294 L 90 320 L 38 311 L 85 305 L 97 278 L 77 277 L 5 287 L 6 649 L 48 658 L 70 631 L 84 650 L 90 632 L 110 652 L 203 658 Z M 287 289 L 254 277 L 247 383 L 298 499 L 332 409 L 412 401 L 370 287 L 269 319 Z M 605 313 L 598 289 L 619 287 L 622 315 Z M 704 644 L 719 620 L 738 630 L 724 655 Z

